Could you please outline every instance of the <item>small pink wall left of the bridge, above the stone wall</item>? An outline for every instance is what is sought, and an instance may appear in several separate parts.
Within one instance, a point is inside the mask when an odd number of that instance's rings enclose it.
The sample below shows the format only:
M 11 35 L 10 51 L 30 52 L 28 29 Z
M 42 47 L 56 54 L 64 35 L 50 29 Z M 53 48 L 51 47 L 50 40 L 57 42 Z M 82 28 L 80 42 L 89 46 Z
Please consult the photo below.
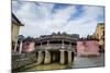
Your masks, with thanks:
M 22 48 L 23 52 L 30 52 L 30 51 L 33 51 L 34 49 L 35 49 L 35 42 L 24 42 L 23 44 L 23 48 Z

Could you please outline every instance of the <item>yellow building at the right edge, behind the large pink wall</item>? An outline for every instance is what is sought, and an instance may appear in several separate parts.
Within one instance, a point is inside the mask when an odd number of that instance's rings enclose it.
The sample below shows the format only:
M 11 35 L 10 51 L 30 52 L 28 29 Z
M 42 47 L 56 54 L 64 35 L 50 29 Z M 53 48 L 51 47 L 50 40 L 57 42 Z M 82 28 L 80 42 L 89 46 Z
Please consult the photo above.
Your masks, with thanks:
M 99 45 L 105 48 L 105 23 L 98 23 L 95 32 L 95 37 L 99 39 Z

